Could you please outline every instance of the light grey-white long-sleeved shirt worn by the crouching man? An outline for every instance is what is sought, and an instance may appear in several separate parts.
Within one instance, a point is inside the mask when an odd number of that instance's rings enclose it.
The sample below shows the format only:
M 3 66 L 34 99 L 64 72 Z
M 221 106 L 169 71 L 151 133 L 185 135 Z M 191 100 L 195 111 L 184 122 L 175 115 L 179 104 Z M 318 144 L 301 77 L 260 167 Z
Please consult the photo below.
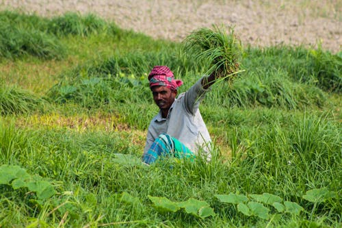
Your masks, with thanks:
M 161 116 L 159 110 L 148 127 L 144 154 L 150 149 L 155 139 L 163 133 L 183 142 L 195 154 L 200 148 L 208 153 L 211 138 L 198 109 L 207 91 L 209 90 L 202 87 L 201 78 L 187 92 L 183 92 L 174 100 L 166 118 Z

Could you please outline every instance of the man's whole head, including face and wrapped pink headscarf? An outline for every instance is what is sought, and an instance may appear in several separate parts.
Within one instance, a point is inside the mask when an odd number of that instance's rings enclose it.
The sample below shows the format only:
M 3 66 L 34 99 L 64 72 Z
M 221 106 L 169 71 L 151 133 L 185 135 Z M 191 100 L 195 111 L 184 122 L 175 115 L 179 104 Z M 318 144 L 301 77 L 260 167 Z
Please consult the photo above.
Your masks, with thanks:
M 174 79 L 168 66 L 155 66 L 148 75 L 148 81 L 155 103 L 162 111 L 168 112 L 176 98 L 177 88 L 183 84 L 183 81 Z

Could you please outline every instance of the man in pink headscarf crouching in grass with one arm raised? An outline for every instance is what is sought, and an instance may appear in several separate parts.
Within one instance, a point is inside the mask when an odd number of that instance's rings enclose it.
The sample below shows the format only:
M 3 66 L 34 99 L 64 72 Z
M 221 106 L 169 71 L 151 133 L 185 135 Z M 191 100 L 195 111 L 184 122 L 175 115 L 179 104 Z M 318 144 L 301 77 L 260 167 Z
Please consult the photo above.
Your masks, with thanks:
M 215 74 L 199 79 L 176 98 L 183 81 L 174 79 L 168 66 L 155 66 L 148 75 L 159 113 L 148 127 L 142 160 L 146 164 L 159 157 L 194 157 L 200 150 L 210 159 L 211 138 L 198 106 L 215 81 Z

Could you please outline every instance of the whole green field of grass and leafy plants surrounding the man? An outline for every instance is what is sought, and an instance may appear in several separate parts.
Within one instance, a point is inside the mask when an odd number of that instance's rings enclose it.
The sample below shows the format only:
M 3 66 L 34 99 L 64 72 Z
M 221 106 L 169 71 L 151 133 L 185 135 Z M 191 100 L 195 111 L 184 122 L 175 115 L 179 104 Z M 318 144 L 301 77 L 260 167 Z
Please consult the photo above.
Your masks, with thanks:
M 211 162 L 146 166 L 150 69 L 184 92 L 210 62 L 94 15 L 0 27 L 0 227 L 341 227 L 341 52 L 241 49 L 200 106 Z

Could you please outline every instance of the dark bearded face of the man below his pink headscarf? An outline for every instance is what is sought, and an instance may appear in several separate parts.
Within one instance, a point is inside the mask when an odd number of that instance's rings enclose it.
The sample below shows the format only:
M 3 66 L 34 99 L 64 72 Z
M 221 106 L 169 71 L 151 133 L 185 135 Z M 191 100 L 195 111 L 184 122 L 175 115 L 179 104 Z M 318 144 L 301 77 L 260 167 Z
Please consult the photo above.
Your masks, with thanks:
M 153 99 L 161 110 L 169 110 L 177 95 L 177 90 L 170 90 L 165 86 L 153 86 L 151 88 Z

